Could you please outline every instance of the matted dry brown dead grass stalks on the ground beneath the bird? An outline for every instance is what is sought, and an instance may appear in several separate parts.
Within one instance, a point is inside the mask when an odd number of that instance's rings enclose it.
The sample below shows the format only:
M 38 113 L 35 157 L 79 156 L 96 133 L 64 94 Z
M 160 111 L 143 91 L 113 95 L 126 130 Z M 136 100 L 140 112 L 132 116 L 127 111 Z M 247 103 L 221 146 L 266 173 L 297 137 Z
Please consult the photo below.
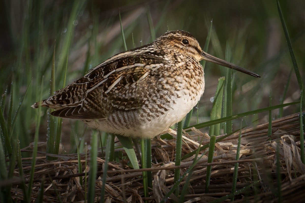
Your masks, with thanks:
M 272 121 L 272 134 L 268 137 L 268 123 L 257 128 L 241 131 L 239 160 L 236 150 L 239 132 L 217 142 L 212 163 L 207 163 L 207 151 L 192 173 L 184 177 L 180 189 L 190 177 L 184 202 L 231 201 L 233 173 L 235 163 L 239 163 L 235 197 L 233 202 L 303 202 L 305 196 L 305 165 L 300 158 L 300 121 L 299 114 L 282 117 Z M 184 132 L 182 156 L 209 143 L 209 136 L 196 128 Z M 175 131 L 170 131 L 175 137 Z M 217 138 L 224 136 L 220 135 Z M 199 138 L 198 138 L 199 137 Z M 174 184 L 175 138 L 171 140 L 152 139 L 152 183 L 149 197 L 144 197 L 142 170 L 133 170 L 128 160 L 108 164 L 105 187 L 105 202 L 160 202 Z M 302 143 L 304 145 L 304 143 Z M 120 149 L 118 149 L 120 150 Z M 99 151 L 101 152 L 101 151 Z M 124 150 L 121 150 L 124 154 Z M 101 153 L 99 153 L 99 157 Z M 181 175 L 192 165 L 195 155 L 181 161 Z M 87 160 L 86 160 L 87 159 Z M 81 154 L 81 170 L 78 173 L 76 154 L 59 155 L 57 160 L 37 159 L 31 201 L 35 201 L 39 191 L 44 190 L 43 202 L 85 202 L 85 182 L 88 184 L 88 154 Z M 100 201 L 102 170 L 105 161 L 97 158 L 98 174 L 96 177 L 95 202 Z M 25 184 L 30 177 L 30 160 L 23 161 Z M 212 166 L 209 192 L 205 193 L 207 166 Z M 85 176 L 85 172 L 87 177 Z M 16 178 L 11 180 L 12 198 L 23 200 L 22 180 L 18 167 L 14 171 Z M 87 180 L 86 180 L 87 179 Z M 82 180 L 82 181 L 81 181 Z M 86 181 L 85 181 L 86 180 Z M 42 184 L 43 183 L 43 184 Z M 43 188 L 41 188 L 43 187 Z M 280 194 L 280 196 L 278 195 Z M 173 202 L 171 196 L 166 202 Z M 101 201 L 101 202 L 103 202 Z

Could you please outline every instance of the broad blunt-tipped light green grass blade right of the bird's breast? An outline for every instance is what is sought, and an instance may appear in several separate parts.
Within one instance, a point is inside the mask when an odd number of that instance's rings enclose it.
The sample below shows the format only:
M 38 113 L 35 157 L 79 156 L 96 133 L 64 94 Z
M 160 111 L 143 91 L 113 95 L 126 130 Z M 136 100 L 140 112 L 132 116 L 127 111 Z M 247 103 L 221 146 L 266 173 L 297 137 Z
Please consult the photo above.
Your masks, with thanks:
M 218 79 L 218 84 L 214 96 L 213 107 L 211 111 L 211 120 L 221 118 L 222 101 L 224 94 L 224 77 Z M 220 123 L 212 125 L 210 127 L 209 135 L 219 135 L 220 134 Z

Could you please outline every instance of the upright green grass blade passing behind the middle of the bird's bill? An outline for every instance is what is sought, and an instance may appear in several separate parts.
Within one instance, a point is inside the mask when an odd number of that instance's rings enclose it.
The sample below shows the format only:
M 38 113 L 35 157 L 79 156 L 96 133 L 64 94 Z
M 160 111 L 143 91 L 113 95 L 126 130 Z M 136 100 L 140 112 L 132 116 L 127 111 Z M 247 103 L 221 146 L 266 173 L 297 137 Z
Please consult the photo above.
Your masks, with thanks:
M 227 41 L 225 60 L 230 62 L 231 53 L 229 51 L 229 44 Z M 224 80 L 224 117 L 232 115 L 232 69 L 225 69 Z M 224 123 L 224 134 L 232 132 L 232 121 Z

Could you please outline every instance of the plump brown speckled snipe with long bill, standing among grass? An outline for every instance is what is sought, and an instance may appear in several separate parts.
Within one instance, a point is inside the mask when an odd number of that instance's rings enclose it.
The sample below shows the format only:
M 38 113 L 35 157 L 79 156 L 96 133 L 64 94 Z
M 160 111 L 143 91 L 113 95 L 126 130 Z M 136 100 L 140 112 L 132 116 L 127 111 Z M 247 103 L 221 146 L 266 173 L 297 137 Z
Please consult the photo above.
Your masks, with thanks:
M 33 108 L 82 120 L 91 128 L 131 138 L 153 138 L 181 121 L 204 92 L 201 60 L 260 75 L 204 52 L 192 34 L 164 33 L 121 52 Z

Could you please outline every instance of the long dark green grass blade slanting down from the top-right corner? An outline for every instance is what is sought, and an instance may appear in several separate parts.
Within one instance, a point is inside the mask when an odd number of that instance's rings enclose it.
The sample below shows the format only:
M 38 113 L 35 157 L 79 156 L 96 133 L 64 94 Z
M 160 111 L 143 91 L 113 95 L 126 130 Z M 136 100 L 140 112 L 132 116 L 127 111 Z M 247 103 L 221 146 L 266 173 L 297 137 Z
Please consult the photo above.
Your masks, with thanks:
M 278 2 L 278 0 L 276 2 L 277 2 L 277 5 L 278 5 L 278 14 L 280 16 L 282 27 L 283 27 L 283 30 L 284 30 L 284 33 L 285 33 L 286 42 L 287 42 L 287 45 L 288 45 L 288 49 L 289 49 L 290 57 L 291 57 L 291 60 L 292 60 L 294 72 L 296 73 L 296 79 L 298 80 L 300 90 L 303 90 L 303 89 L 305 89 L 304 88 L 304 83 L 303 83 L 302 77 L 300 75 L 298 65 L 296 63 L 296 57 L 294 56 L 294 53 L 293 53 L 292 44 L 291 44 L 291 41 L 290 41 L 287 26 L 286 26 L 286 23 L 285 23 L 285 20 L 284 20 L 284 17 L 283 17 L 281 6 L 280 6 L 280 3 Z M 303 94 L 303 102 L 305 102 L 305 94 Z

